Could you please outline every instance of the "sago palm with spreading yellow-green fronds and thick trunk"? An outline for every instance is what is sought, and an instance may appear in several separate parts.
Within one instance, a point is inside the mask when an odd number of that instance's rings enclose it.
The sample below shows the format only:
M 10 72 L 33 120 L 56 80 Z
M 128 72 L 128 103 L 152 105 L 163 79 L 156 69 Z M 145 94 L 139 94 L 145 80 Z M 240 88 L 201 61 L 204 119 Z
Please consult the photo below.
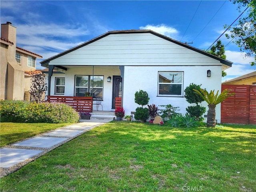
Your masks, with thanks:
M 200 88 L 200 90 L 196 90 L 196 89 L 193 89 L 193 90 L 208 103 L 209 110 L 207 112 L 206 126 L 207 127 L 215 127 L 215 125 L 216 125 L 216 122 L 215 122 L 216 105 L 221 103 L 222 101 L 224 101 L 229 96 L 234 95 L 235 93 L 230 94 L 231 90 L 227 90 L 227 89 L 223 90 L 220 93 L 220 95 L 218 95 L 219 91 L 217 91 L 217 93 L 214 94 L 214 90 L 211 90 L 210 93 L 208 91 L 206 91 L 205 89 L 201 89 L 201 88 Z

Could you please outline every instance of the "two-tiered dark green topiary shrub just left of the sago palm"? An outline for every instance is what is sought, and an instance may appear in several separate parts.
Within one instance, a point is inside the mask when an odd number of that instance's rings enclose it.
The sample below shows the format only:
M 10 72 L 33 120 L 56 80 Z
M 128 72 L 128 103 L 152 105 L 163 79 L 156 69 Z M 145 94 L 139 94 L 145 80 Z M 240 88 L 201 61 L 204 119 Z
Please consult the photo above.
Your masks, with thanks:
M 199 103 L 203 102 L 204 99 L 200 95 L 196 94 L 194 92 L 194 89 L 200 90 L 201 85 L 196 85 L 194 83 L 191 83 L 184 90 L 185 92 L 184 97 L 186 98 L 187 102 L 191 104 L 192 103 L 196 104 L 196 106 L 188 106 L 186 108 L 186 111 L 188 112 L 188 114 L 190 114 L 190 116 L 192 117 L 194 116 L 196 120 L 200 120 L 200 121 L 204 119 L 202 118 L 202 115 L 206 112 L 206 108 L 199 105 Z

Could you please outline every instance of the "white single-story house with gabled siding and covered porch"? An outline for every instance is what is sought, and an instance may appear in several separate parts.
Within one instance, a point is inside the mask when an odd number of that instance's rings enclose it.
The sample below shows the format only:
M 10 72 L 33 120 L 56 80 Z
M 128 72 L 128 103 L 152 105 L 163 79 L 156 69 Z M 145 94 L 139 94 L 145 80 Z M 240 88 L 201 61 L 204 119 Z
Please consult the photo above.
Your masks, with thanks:
M 190 104 L 184 89 L 194 83 L 220 91 L 222 70 L 232 66 L 230 61 L 152 30 L 107 32 L 40 63 L 49 68 L 48 95 L 90 92 L 103 97 L 104 110 L 114 110 L 115 98 L 122 97 L 126 115 L 139 106 L 134 102 L 139 90 L 148 92 L 149 104 L 172 104 L 185 114 Z M 64 74 L 52 74 L 53 69 Z M 220 122 L 220 105 L 216 119 Z

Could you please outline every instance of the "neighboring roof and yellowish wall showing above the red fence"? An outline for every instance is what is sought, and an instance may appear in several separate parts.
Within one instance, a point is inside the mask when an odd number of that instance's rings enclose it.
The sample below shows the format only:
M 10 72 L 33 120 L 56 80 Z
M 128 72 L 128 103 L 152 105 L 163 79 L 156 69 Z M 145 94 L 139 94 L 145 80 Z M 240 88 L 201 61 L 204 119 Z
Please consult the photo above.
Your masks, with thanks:
M 223 85 L 256 85 L 256 71 L 225 81 Z

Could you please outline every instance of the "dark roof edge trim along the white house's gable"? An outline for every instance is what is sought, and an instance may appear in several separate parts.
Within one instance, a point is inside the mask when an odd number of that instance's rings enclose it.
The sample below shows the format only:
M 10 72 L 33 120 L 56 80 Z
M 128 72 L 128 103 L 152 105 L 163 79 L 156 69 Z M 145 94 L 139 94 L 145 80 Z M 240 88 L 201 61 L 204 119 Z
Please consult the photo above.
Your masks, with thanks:
M 232 63 L 233 63 L 233 62 L 230 62 L 230 61 L 228 61 L 228 60 L 224 60 L 224 59 L 222 59 L 222 58 L 219 58 L 219 57 L 217 57 L 217 56 L 214 56 L 214 55 L 212 55 L 212 54 L 209 54 L 208 52 L 205 52 L 205 51 L 200 50 L 200 49 L 198 49 L 198 48 L 192 47 L 192 46 L 190 46 L 190 45 L 184 44 L 184 43 L 182 43 L 182 42 L 179 42 L 179 41 L 177 41 L 177 40 L 174 40 L 174 39 L 172 39 L 172 38 L 169 38 L 169 37 L 164 36 L 164 35 L 162 35 L 162 34 L 159 34 L 159 33 L 157 33 L 157 32 L 154 32 L 154 31 L 152 31 L 152 30 L 117 30 L 117 31 L 109 31 L 109 32 L 106 32 L 105 34 L 102 34 L 102 35 L 96 37 L 96 38 L 93 38 L 92 40 L 89 40 L 89 41 L 87 41 L 87 42 L 84 42 L 84 43 L 82 43 L 82 44 L 80 44 L 80 45 L 78 45 L 78 46 L 75 46 L 75 47 L 73 47 L 73 48 L 71 48 L 71 49 L 69 49 L 69 50 L 66 50 L 66 51 L 64 51 L 64 52 L 62 52 L 62 53 L 60 53 L 60 54 L 57 54 L 57 55 L 52 56 L 52 57 L 50 57 L 50 58 L 48 58 L 48 59 L 46 59 L 46 60 L 43 60 L 43 61 L 41 61 L 40 63 L 41 63 L 42 66 L 45 66 L 45 67 L 46 67 L 47 64 L 48 64 L 51 60 L 54 60 L 54 59 L 56 59 L 56 58 L 58 58 L 58 57 L 60 57 L 60 56 L 63 56 L 63 55 L 65 55 L 65 54 L 68 54 L 68 53 L 70 53 L 70 52 L 72 52 L 72 51 L 74 51 L 74 50 L 77 50 L 77 49 L 79 49 L 79 48 L 81 48 L 81 47 L 83 47 L 83 46 L 86 46 L 86 45 L 88 45 L 88 44 L 90 44 L 90 43 L 92 43 L 92 42 L 95 42 L 95 41 L 97 41 L 97 40 L 99 40 L 99 39 L 101 39 L 101 38 L 104 38 L 104 37 L 106 37 L 106 36 L 108 36 L 108 35 L 110 35 L 110 34 L 130 34 L 130 33 L 151 33 L 151 34 L 153 34 L 153 35 L 156 35 L 156 36 L 158 36 L 158 37 L 160 37 L 160 38 L 163 38 L 163 39 L 165 39 L 165 40 L 168 40 L 168 41 L 173 42 L 173 43 L 175 43 L 175 44 L 178 44 L 178 45 L 180 45 L 180 46 L 183 46 L 183 47 L 186 47 L 186 48 L 188 48 L 188 49 L 190 49 L 190 50 L 196 51 L 196 52 L 198 52 L 198 53 L 200 53 L 200 54 L 204 54 L 204 55 L 206 55 L 206 56 L 208 56 L 208 57 L 211 57 L 211 58 L 214 58 L 214 59 L 216 59 L 216 60 L 219 60 L 220 63 L 225 64 L 225 65 L 227 65 L 227 66 L 230 66 L 230 67 L 231 67 L 231 66 L 232 66 Z

